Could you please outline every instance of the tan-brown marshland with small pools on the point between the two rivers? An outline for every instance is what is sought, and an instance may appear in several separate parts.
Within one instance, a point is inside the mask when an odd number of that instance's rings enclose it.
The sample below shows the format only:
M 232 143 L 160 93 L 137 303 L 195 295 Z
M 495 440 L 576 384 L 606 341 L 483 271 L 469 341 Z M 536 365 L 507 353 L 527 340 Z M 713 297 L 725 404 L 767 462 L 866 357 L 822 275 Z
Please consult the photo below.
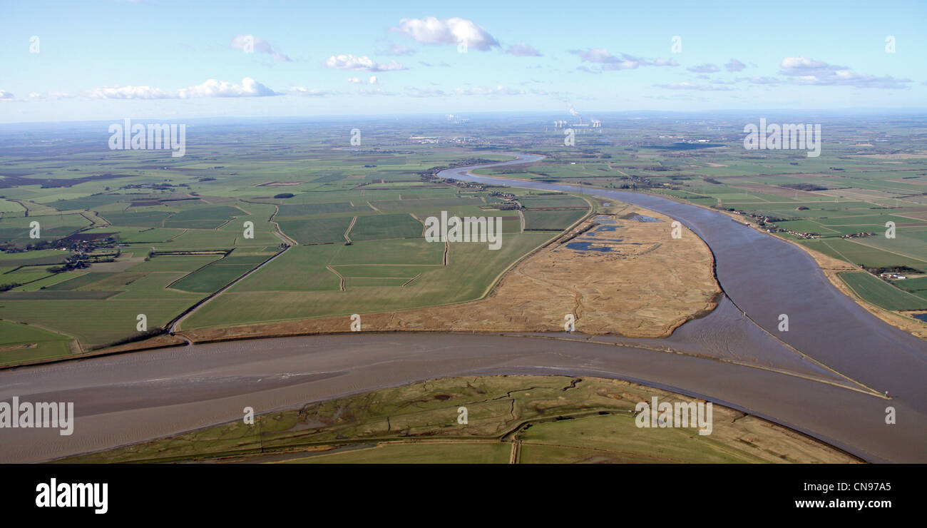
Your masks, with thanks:
M 590 236 L 592 222 L 578 225 L 517 264 L 484 300 L 364 314 L 362 330 L 564 331 L 565 316 L 572 314 L 575 329 L 585 334 L 656 338 L 715 308 L 721 290 L 701 238 L 684 227 L 681 238 L 671 238 L 672 219 L 641 207 L 616 203 L 607 212 L 615 230 L 598 229 Z M 619 218 L 632 213 L 659 222 Z M 579 238 L 601 240 L 595 246 L 613 251 L 565 247 Z M 197 342 L 344 332 L 349 326 L 348 316 L 338 316 L 178 334 Z

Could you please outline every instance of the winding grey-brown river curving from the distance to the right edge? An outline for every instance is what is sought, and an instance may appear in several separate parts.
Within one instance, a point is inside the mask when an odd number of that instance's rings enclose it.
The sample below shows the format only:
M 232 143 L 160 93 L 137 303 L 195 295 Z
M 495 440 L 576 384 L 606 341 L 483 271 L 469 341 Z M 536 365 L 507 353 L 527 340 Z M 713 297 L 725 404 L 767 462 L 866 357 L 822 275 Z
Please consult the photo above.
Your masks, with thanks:
M 729 216 L 702 207 L 628 191 L 588 189 L 472 174 L 476 168 L 538 161 L 540 156 L 448 169 L 438 177 L 508 187 L 587 193 L 662 212 L 705 240 L 715 255 L 717 279 L 746 316 L 768 332 L 880 392 L 927 407 L 927 341 L 872 316 L 835 289 L 805 251 Z M 667 225 L 667 243 L 670 238 Z M 789 317 L 779 331 L 780 316 Z

